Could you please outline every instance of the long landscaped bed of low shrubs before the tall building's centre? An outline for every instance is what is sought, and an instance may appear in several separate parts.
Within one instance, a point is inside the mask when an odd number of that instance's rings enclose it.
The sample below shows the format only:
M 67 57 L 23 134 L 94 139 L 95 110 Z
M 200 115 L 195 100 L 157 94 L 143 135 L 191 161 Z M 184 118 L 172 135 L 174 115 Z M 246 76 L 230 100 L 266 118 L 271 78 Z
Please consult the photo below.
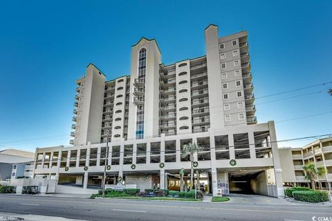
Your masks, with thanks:
M 102 197 L 102 190 L 98 191 L 98 194 L 91 195 L 91 199 Z M 136 188 L 124 188 L 123 191 L 106 189 L 105 198 L 121 198 L 132 200 L 178 200 L 178 201 L 202 201 L 203 193 L 197 191 L 195 199 L 195 191 L 178 192 L 162 189 L 145 189 L 144 192 L 140 192 L 140 189 Z

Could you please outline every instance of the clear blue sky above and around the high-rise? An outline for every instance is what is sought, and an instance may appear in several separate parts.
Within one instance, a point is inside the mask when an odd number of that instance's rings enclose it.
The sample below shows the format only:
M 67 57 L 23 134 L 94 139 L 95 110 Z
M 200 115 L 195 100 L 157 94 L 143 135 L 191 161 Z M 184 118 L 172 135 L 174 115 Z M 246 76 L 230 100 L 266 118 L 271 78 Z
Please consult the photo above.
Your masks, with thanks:
M 248 30 L 256 98 L 332 81 L 332 1 L 3 1 L 1 9 L 0 150 L 67 145 L 75 80 L 90 62 L 108 79 L 129 74 L 130 46 L 142 36 L 156 38 L 169 64 L 205 55 L 208 24 L 220 36 Z M 331 87 L 257 99 L 258 121 L 330 111 L 276 123 L 278 140 L 330 134 Z

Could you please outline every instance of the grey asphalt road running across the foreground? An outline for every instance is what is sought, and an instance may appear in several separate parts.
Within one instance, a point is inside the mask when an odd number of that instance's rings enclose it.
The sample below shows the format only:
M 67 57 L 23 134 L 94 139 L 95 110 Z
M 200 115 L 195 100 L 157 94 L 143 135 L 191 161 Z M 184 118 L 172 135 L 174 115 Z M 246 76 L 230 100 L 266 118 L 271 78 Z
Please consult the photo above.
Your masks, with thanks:
M 332 220 L 331 205 L 90 200 L 33 195 L 0 195 L 0 212 L 82 220 Z

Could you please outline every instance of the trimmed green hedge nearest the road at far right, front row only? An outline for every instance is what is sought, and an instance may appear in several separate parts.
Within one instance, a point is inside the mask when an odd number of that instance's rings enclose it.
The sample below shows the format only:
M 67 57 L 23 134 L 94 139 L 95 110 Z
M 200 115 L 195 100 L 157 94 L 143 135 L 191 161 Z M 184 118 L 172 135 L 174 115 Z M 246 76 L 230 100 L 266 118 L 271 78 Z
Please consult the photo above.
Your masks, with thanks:
M 303 202 L 325 202 L 329 201 L 327 191 L 293 191 L 294 200 Z

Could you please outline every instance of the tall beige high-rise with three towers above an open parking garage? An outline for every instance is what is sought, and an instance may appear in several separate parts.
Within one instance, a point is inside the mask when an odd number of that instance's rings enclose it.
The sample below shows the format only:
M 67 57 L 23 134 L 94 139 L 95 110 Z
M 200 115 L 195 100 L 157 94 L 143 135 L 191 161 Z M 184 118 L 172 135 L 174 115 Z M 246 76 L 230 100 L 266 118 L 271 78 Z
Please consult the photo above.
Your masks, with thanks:
M 181 148 L 198 143 L 195 179 L 205 190 L 283 195 L 274 123 L 255 116 L 248 34 L 219 37 L 210 25 L 205 47 L 166 65 L 156 40 L 142 37 L 130 76 L 109 81 L 89 64 L 77 80 L 73 146 L 37 148 L 34 176 L 55 177 L 62 190 L 100 188 L 106 163 L 109 185 L 176 189 L 179 170 L 190 170 Z

